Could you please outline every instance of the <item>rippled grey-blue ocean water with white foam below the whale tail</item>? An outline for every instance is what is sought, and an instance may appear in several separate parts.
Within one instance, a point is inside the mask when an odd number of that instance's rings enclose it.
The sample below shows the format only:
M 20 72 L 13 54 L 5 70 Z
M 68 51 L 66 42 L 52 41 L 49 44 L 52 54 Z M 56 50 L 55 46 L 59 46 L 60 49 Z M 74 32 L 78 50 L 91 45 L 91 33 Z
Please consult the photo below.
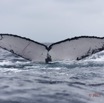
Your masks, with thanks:
M 104 103 L 104 52 L 45 64 L 0 49 L 0 103 Z

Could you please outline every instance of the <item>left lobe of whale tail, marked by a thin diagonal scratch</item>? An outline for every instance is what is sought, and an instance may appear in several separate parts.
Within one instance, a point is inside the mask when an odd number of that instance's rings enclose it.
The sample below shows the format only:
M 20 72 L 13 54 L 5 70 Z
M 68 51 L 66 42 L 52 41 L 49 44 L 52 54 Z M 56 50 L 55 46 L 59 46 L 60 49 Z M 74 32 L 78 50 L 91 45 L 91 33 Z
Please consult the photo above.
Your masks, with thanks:
M 47 56 L 47 46 L 17 35 L 0 34 L 0 47 L 34 62 Z

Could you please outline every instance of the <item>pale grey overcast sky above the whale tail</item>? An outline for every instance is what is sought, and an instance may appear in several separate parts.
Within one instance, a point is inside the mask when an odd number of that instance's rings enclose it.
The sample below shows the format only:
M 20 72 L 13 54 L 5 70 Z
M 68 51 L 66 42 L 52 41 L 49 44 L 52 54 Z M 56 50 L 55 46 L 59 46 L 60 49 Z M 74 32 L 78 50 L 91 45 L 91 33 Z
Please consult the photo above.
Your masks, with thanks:
M 38 42 L 104 37 L 104 0 L 0 0 L 0 33 Z

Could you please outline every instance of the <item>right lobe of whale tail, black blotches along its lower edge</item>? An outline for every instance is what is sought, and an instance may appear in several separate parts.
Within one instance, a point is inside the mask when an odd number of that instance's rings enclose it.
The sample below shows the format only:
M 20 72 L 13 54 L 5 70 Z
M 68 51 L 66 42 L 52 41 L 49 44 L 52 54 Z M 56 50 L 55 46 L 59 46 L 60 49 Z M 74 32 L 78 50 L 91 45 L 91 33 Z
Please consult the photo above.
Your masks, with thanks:
M 104 50 L 104 38 L 80 36 L 53 43 L 49 47 L 52 60 L 81 60 Z

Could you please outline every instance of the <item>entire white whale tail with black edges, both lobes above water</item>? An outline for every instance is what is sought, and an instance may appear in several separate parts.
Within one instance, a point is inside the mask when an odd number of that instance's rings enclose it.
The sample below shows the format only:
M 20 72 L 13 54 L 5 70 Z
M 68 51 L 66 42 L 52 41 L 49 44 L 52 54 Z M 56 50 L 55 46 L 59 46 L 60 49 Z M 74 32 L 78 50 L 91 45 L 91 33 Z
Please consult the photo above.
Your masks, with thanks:
M 79 36 L 46 46 L 12 34 L 0 34 L 0 47 L 34 62 L 81 60 L 104 50 L 104 37 Z

